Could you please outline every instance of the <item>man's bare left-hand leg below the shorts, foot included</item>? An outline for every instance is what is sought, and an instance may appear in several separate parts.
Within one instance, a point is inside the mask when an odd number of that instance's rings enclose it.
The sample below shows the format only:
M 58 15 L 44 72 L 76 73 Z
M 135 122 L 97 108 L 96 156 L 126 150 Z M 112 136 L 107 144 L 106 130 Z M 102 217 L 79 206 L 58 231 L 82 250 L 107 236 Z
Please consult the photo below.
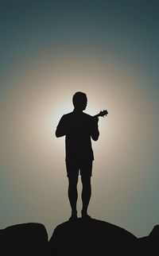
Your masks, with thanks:
M 72 208 L 72 216 L 70 219 L 77 219 L 77 210 L 76 210 L 76 203 L 77 203 L 77 182 L 78 176 L 68 176 L 68 199 Z

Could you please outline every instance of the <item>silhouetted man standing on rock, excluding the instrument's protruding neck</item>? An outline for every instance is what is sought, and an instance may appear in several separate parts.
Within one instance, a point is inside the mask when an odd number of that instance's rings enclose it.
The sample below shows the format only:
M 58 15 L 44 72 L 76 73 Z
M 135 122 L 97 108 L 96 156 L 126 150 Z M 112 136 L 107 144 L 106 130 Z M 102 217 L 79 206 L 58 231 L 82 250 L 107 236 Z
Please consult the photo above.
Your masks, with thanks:
M 94 118 L 83 113 L 87 106 L 87 95 L 77 91 L 73 95 L 74 110 L 64 114 L 56 128 L 56 137 L 66 136 L 66 169 L 68 175 L 68 198 L 72 208 L 70 220 L 77 219 L 77 182 L 79 173 L 82 180 L 82 203 L 81 215 L 83 219 L 89 219 L 87 207 L 91 199 L 91 172 L 94 160 L 91 148 L 91 138 L 97 141 L 99 138 L 99 118 Z

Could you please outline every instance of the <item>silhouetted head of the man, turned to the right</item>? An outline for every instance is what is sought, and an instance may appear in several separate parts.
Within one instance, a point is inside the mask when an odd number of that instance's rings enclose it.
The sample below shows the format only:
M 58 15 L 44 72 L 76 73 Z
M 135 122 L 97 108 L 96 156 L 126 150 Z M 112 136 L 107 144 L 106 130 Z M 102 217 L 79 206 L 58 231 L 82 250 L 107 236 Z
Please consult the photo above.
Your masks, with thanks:
M 73 106 L 78 111 L 84 111 L 87 106 L 87 95 L 81 91 L 77 91 L 72 98 Z

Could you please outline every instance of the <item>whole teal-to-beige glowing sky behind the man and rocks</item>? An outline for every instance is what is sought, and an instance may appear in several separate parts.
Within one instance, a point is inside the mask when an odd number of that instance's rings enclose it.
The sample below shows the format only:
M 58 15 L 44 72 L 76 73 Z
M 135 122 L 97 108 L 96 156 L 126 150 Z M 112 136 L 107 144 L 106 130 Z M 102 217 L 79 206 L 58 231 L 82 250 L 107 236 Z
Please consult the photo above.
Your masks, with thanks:
M 159 223 L 159 3 L 0 2 L 0 228 L 68 220 L 64 138 L 72 95 L 99 118 L 89 214 L 137 237 Z M 78 184 L 78 211 L 81 184 Z

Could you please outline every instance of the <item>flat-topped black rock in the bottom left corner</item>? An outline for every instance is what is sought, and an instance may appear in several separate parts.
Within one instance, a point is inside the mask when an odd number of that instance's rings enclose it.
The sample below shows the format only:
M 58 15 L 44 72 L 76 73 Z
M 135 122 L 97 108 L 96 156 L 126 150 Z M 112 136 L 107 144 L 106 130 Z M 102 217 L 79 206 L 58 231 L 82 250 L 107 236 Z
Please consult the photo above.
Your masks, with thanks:
M 24 223 L 0 230 L 0 255 L 47 255 L 48 234 L 41 223 Z

